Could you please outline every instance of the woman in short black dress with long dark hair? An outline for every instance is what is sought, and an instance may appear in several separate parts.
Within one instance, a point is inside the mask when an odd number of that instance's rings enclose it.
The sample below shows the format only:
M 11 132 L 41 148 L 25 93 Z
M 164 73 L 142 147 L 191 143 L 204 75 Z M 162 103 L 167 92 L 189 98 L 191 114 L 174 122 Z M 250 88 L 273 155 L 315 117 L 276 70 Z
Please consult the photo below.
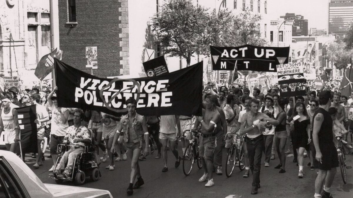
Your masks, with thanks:
M 296 116 L 300 116 L 295 119 Z M 309 150 L 310 139 L 310 118 L 306 112 L 304 103 L 295 104 L 293 119 L 291 120 L 291 127 L 294 127 L 291 133 L 293 149 L 298 153 L 299 173 L 298 177 L 303 178 L 304 172 L 304 150 Z

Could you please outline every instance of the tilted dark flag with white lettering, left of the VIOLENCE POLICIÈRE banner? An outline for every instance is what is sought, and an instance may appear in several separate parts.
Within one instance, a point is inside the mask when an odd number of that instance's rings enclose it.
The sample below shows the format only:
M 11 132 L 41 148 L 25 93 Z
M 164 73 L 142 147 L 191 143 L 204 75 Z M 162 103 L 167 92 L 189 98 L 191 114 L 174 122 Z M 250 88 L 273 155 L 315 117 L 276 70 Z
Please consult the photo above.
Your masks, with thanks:
M 47 55 L 44 55 L 41 60 L 38 62 L 36 70 L 34 74 L 37 76 L 39 80 L 43 80 L 52 70 L 54 69 L 54 55 L 60 60 L 62 55 L 62 51 L 57 51 L 57 48 L 50 52 Z

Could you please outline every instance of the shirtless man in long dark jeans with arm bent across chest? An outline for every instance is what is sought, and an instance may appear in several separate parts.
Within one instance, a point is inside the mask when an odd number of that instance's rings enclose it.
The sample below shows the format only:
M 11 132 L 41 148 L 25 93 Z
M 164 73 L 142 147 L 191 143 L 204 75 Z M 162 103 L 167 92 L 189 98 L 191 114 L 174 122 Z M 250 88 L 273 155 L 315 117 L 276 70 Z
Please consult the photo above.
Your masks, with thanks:
M 277 126 L 279 122 L 269 118 L 264 113 L 258 112 L 258 100 L 251 99 L 249 105 L 250 111 L 244 113 L 241 121 L 240 134 L 247 134 L 246 148 L 249 155 L 250 170 L 253 174 L 251 194 L 257 194 L 257 189 L 260 188 L 261 157 L 264 149 L 264 137 L 259 129 L 271 125 Z

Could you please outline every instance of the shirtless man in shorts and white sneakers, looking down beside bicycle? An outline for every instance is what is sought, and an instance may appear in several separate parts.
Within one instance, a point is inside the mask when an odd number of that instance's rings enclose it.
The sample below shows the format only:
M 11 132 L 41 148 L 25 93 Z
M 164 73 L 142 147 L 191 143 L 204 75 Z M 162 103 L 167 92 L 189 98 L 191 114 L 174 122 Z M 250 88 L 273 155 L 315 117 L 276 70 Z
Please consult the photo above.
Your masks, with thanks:
M 201 124 L 201 136 L 199 144 L 199 155 L 202 159 L 204 174 L 199 179 L 199 182 L 207 181 L 206 187 L 214 185 L 212 177 L 212 158 L 215 150 L 216 128 L 220 121 L 220 113 L 216 108 L 218 103 L 215 95 L 208 95 L 205 101 L 205 110 L 202 111 L 202 117 L 197 117 L 193 130 L 196 130 Z

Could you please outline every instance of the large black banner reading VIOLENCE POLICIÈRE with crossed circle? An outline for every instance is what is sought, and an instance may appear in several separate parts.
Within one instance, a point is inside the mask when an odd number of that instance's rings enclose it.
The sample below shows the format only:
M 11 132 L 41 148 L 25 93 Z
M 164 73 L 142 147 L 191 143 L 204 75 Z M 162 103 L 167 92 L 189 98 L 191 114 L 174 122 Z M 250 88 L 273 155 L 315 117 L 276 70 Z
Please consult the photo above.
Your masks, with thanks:
M 58 105 L 121 115 L 127 113 L 126 99 L 133 97 L 144 116 L 201 116 L 202 69 L 199 62 L 160 76 L 105 79 L 55 59 Z

